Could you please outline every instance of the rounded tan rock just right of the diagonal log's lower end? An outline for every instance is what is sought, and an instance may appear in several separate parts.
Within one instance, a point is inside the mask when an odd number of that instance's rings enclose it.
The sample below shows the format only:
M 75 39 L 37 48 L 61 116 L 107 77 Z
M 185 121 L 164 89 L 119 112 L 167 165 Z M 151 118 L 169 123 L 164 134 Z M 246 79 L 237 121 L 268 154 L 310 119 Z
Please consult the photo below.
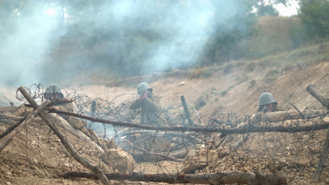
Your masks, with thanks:
M 134 157 L 124 152 L 120 147 L 105 150 L 102 159 L 114 170 L 123 174 L 132 173 L 136 166 Z

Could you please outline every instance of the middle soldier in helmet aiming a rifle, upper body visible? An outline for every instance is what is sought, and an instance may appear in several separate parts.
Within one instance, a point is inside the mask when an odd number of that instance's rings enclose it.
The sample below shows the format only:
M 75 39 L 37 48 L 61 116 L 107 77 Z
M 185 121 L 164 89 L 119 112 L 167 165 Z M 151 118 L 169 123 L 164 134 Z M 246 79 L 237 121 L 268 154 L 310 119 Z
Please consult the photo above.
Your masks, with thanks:
M 141 124 L 161 125 L 165 119 L 160 116 L 160 99 L 153 93 L 153 89 L 143 82 L 137 86 L 137 94 L 139 96 L 130 105 L 130 109 L 141 108 Z

